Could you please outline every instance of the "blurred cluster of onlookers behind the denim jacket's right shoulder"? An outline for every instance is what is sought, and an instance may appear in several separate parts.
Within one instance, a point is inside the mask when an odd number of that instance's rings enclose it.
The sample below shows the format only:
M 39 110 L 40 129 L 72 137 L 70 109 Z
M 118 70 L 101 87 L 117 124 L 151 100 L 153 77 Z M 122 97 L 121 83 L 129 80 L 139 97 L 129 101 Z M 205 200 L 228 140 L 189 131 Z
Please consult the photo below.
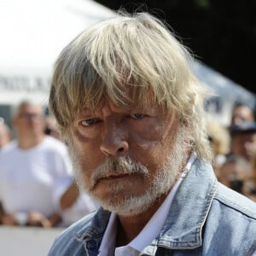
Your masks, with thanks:
M 214 154 L 213 169 L 218 181 L 256 201 L 255 113 L 237 103 L 230 125 L 208 122 L 207 131 Z

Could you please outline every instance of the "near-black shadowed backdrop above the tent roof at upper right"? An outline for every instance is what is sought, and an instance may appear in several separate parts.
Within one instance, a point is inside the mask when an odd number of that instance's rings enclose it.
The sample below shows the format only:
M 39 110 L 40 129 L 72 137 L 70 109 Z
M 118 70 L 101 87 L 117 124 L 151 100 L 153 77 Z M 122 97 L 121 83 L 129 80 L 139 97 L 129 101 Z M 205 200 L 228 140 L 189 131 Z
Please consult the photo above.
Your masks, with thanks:
M 137 9 L 164 19 L 210 67 L 256 92 L 255 0 L 99 0 L 110 9 Z

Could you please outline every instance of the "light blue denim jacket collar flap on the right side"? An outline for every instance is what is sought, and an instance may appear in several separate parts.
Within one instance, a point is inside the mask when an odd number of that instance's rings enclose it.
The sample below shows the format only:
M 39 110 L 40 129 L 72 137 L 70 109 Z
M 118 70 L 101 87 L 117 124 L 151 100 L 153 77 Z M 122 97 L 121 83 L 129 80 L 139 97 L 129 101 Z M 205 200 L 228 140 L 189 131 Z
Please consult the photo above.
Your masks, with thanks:
M 160 235 L 143 252 L 155 246 L 170 249 L 201 247 L 202 229 L 218 187 L 212 166 L 196 159 L 177 191 Z

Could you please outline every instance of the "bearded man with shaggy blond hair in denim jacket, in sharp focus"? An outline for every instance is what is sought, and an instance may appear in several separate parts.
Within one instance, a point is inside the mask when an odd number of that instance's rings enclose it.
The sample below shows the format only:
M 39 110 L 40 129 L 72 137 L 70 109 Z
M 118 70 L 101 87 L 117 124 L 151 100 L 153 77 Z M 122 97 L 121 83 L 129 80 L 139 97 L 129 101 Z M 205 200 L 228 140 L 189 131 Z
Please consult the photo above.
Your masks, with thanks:
M 251 255 L 253 201 L 208 163 L 205 90 L 189 53 L 152 15 L 91 26 L 55 63 L 49 107 L 81 189 L 101 208 L 49 255 Z

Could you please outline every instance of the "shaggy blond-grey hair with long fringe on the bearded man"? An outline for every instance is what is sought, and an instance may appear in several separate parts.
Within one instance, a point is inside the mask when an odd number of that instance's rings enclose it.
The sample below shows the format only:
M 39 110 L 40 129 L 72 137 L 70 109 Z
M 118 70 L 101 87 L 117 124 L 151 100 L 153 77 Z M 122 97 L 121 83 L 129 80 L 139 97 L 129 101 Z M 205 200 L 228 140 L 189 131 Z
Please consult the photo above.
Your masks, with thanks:
M 49 109 L 65 135 L 74 117 L 83 108 L 96 109 L 102 98 L 131 108 L 147 104 L 150 94 L 166 111 L 177 111 L 180 123 L 189 127 L 193 150 L 212 160 L 203 117 L 207 90 L 195 79 L 189 61 L 189 50 L 153 15 L 116 15 L 88 27 L 61 51 Z

